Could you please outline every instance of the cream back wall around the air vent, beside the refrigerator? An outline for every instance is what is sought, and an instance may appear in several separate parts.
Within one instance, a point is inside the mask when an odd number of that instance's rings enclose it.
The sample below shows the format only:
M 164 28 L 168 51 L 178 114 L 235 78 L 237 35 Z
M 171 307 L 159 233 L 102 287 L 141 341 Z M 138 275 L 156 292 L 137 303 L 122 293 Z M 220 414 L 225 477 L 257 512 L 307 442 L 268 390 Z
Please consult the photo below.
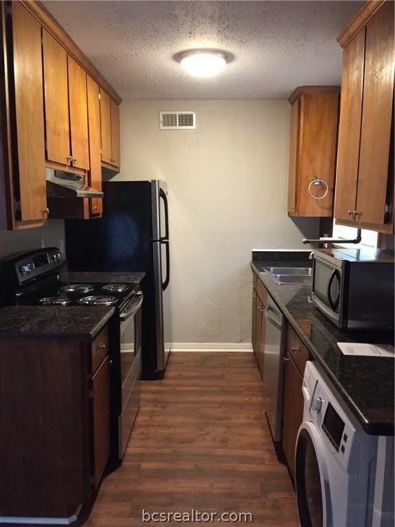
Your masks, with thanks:
M 159 130 L 191 110 L 196 130 Z M 287 216 L 286 101 L 124 101 L 121 174 L 163 179 L 171 210 L 173 342 L 250 342 L 252 248 L 302 248 Z

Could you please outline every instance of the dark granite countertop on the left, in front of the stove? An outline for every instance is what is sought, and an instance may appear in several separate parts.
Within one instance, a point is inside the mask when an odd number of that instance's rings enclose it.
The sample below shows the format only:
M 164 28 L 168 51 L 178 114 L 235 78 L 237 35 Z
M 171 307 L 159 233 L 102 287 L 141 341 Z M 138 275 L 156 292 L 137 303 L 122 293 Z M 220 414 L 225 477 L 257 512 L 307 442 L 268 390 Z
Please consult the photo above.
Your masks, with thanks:
M 115 312 L 107 306 L 12 306 L 0 308 L 0 338 L 94 340 Z

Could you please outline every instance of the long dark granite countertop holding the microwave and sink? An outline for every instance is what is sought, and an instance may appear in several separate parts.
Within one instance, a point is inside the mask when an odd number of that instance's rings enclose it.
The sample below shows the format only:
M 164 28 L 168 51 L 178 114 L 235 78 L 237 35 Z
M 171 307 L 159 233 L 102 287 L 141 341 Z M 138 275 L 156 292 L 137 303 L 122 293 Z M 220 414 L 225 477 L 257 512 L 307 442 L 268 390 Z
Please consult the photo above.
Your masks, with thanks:
M 337 342 L 392 343 L 393 335 L 340 331 L 311 304 L 311 286 L 278 285 L 263 272 L 264 267 L 278 264 L 286 262 L 267 255 L 261 261 L 254 258 L 251 267 L 363 429 L 368 434 L 394 435 L 394 360 L 347 356 L 337 346 Z M 300 259 L 287 259 L 287 265 L 300 264 Z

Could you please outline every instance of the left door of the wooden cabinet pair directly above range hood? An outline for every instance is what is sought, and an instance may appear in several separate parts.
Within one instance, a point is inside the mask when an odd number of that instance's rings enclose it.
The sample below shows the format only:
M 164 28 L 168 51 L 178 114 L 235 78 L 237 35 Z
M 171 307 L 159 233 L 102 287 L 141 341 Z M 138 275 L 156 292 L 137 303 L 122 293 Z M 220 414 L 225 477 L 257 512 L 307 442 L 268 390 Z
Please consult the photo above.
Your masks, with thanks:
M 47 159 L 69 165 L 71 156 L 67 53 L 44 29 L 43 62 Z

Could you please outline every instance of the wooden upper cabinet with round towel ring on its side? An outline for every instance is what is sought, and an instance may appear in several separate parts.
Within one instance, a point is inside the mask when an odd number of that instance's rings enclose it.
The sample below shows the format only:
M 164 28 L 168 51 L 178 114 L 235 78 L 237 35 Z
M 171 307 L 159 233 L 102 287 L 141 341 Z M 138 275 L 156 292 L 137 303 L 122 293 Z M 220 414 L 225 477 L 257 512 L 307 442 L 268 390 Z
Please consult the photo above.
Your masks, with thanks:
M 300 86 L 288 99 L 289 215 L 333 214 L 339 95 L 339 86 Z

